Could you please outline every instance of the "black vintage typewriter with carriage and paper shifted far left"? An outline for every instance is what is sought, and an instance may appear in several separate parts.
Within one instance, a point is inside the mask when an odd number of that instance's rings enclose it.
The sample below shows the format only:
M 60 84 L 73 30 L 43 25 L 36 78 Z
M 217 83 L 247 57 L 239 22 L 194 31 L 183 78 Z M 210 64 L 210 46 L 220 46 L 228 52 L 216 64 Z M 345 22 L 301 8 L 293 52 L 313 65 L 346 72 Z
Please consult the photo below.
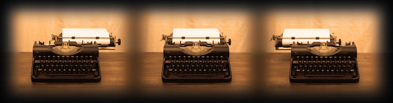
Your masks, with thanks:
M 291 50 L 291 83 L 359 82 L 355 43 L 342 44 L 329 29 L 285 29 L 272 40 L 276 50 Z

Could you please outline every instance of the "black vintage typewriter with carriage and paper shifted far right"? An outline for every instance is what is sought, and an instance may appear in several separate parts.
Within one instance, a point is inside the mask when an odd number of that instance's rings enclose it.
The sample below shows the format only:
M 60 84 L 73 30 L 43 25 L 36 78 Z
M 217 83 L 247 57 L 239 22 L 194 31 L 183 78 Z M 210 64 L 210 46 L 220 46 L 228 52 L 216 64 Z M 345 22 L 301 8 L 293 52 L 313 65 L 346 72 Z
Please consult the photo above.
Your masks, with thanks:
M 62 29 L 51 36 L 53 43 L 34 42 L 33 82 L 100 82 L 98 51 L 121 43 L 106 29 Z

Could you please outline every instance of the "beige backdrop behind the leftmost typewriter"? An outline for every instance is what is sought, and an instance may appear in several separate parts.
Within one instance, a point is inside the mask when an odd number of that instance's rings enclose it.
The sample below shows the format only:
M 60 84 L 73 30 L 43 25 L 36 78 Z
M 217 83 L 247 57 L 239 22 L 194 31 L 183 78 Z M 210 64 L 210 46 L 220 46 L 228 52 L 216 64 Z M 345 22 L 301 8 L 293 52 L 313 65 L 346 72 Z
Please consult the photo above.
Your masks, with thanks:
M 62 28 L 105 28 L 117 38 L 123 38 L 116 50 L 101 52 L 125 52 L 128 45 L 127 16 L 119 10 L 81 9 L 15 9 L 11 15 L 14 51 L 32 52 L 34 41 L 48 43 L 51 34 L 62 33 Z M 52 41 L 53 43 L 53 41 Z

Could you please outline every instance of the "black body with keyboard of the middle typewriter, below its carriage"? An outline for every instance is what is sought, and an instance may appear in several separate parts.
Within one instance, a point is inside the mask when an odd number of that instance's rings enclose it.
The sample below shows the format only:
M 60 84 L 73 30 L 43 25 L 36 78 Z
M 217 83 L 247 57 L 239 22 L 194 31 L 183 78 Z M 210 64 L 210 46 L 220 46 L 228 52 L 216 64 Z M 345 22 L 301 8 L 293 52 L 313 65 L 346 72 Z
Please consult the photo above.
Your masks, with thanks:
M 215 45 L 202 55 L 165 44 L 162 81 L 167 83 L 227 83 L 231 81 L 228 45 Z

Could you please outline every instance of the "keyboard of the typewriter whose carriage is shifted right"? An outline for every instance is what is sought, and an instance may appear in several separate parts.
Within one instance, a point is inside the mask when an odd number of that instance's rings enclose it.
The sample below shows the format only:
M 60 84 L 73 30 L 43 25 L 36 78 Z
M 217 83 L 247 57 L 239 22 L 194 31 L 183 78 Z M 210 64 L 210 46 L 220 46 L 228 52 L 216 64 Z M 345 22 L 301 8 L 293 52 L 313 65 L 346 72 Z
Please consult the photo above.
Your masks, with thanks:
M 45 77 L 97 77 L 97 57 L 38 56 L 34 58 L 33 75 Z

